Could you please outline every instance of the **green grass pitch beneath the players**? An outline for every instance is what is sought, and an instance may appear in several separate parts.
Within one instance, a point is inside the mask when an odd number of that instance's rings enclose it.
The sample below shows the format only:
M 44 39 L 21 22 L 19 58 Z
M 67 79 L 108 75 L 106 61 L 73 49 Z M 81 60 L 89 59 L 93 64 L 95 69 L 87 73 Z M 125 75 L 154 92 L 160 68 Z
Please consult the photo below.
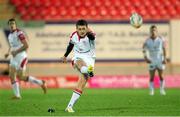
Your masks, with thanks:
M 11 100 L 12 90 L 0 90 L 1 116 L 180 116 L 180 90 L 167 89 L 154 96 L 148 89 L 85 89 L 74 106 L 75 113 L 64 112 L 71 89 L 22 89 L 21 100 Z M 54 108 L 49 113 L 48 108 Z

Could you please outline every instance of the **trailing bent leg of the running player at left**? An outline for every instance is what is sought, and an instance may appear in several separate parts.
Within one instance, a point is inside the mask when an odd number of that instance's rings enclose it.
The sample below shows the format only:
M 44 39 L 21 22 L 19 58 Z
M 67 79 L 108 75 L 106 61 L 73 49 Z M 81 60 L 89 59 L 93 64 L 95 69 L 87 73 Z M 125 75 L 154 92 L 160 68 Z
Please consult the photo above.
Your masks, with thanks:
M 27 59 L 24 58 L 20 62 L 20 66 L 19 66 L 19 69 L 17 71 L 17 76 L 20 78 L 20 80 L 23 80 L 26 82 L 31 82 L 31 83 L 34 83 L 34 84 L 41 86 L 41 88 L 43 89 L 43 92 L 46 93 L 47 88 L 46 88 L 45 81 L 39 80 L 33 76 L 27 76 L 26 75 L 26 64 L 27 64 Z

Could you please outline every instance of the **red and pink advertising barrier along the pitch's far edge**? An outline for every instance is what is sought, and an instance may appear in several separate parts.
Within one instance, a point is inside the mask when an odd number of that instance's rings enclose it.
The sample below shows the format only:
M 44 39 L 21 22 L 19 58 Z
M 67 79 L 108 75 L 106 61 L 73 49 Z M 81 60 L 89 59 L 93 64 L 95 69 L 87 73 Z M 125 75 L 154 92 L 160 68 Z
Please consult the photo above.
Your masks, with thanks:
M 166 88 L 180 88 L 180 75 L 166 75 Z M 46 81 L 48 88 L 74 88 L 78 76 L 51 76 L 38 77 Z M 113 75 L 95 76 L 91 78 L 87 88 L 147 88 L 149 77 L 147 75 Z M 37 85 L 20 81 L 21 88 L 38 88 Z M 159 78 L 155 77 L 155 87 L 159 87 Z M 11 84 L 7 76 L 0 76 L 0 89 L 10 89 Z

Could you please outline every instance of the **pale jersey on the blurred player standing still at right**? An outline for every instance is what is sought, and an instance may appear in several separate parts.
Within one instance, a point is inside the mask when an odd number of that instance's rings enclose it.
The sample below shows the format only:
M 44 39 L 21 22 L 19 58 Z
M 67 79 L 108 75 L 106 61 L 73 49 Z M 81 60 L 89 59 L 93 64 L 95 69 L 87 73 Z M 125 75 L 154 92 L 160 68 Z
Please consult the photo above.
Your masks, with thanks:
M 166 47 L 165 39 L 160 36 L 154 40 L 149 37 L 144 43 L 144 49 L 148 50 L 151 60 L 164 60 L 163 47 Z

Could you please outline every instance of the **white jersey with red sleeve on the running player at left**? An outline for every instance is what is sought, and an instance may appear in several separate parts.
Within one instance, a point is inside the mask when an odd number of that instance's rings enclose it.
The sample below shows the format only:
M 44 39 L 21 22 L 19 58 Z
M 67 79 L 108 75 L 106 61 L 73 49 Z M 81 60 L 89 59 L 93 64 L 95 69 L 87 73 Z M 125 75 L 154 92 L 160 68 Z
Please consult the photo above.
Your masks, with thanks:
M 16 29 L 13 32 L 11 32 L 8 35 L 8 41 L 9 41 L 11 51 L 16 51 L 19 48 L 21 48 L 23 46 L 21 41 L 24 39 L 25 39 L 25 34 L 23 31 Z

